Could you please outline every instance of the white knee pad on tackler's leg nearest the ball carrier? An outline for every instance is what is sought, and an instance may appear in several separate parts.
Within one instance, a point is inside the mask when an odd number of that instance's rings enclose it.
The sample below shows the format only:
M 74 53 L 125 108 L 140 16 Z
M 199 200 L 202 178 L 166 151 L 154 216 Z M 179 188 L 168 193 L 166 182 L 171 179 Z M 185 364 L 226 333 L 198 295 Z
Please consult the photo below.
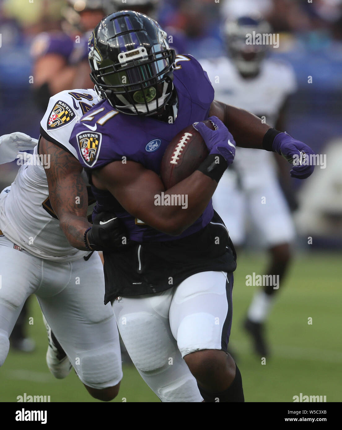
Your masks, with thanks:
M 121 353 L 115 344 L 90 351 L 76 351 L 72 363 L 81 381 L 88 387 L 112 387 L 122 379 Z

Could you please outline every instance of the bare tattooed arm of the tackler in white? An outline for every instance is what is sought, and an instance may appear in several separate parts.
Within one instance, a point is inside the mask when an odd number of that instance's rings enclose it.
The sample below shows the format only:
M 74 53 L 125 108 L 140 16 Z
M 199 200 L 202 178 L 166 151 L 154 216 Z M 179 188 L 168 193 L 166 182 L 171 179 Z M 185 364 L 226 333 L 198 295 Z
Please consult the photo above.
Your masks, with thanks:
M 78 160 L 64 149 L 40 139 L 40 154 L 50 155 L 50 169 L 45 169 L 50 203 L 68 242 L 86 250 L 84 232 L 91 224 L 87 220 L 88 194 L 81 177 Z

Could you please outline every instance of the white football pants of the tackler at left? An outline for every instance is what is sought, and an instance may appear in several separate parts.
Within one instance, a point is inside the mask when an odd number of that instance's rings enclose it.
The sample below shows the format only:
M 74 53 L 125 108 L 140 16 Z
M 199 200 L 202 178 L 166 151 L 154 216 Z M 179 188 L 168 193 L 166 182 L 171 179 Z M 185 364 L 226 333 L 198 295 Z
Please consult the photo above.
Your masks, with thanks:
M 88 261 L 58 262 L 13 249 L 0 237 L 0 365 L 25 300 L 35 294 L 53 333 L 78 377 L 103 389 L 121 381 L 118 328 L 103 304 L 103 265 L 97 252 Z

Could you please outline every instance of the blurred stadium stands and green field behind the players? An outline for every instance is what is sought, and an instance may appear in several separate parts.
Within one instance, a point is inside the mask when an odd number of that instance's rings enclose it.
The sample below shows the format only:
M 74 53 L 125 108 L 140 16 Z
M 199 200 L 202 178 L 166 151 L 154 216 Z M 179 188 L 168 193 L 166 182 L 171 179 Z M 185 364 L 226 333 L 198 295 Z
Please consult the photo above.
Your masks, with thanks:
M 60 28 L 64 3 L 0 0 L 0 135 L 21 131 L 39 136 L 43 112 L 34 103 L 29 83 L 30 47 L 40 32 Z M 270 21 L 274 33 L 280 33 L 280 47 L 271 55 L 291 63 L 298 81 L 286 131 L 316 153 L 326 154 L 327 162 L 326 169 L 316 168 L 306 181 L 291 181 L 295 258 L 270 318 L 271 358 L 261 365 L 240 328 L 255 289 L 246 286 L 245 276 L 258 273 L 265 261 L 263 252 L 252 246 L 239 256 L 235 272 L 230 345 L 243 375 L 246 401 L 291 402 L 299 393 L 341 401 L 336 376 L 342 364 L 342 0 L 165 0 L 159 2 L 158 21 L 181 32 L 181 53 L 216 57 L 224 53 L 222 22 L 256 10 Z M 0 166 L 0 190 L 14 180 L 17 169 L 16 163 Z M 312 244 L 308 237 L 313 237 Z M 16 402 L 23 393 L 50 395 L 52 402 L 92 401 L 75 374 L 63 381 L 50 375 L 47 337 L 33 297 L 29 316 L 34 324 L 27 326 L 27 333 L 36 349 L 10 352 L 0 370 L 0 401 Z M 124 365 L 115 401 L 122 398 L 159 401 L 130 365 Z

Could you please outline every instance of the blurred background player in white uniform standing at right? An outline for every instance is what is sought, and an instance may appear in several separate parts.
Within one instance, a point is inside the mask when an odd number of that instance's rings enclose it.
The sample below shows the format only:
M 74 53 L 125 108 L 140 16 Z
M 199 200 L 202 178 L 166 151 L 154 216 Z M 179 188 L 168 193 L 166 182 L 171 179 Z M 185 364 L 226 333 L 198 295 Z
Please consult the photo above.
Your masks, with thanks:
M 229 20 L 224 26 L 224 37 L 230 58 L 222 56 L 202 61 L 202 66 L 208 72 L 217 100 L 246 109 L 263 122 L 283 130 L 286 101 L 296 89 L 295 75 L 288 64 L 266 58 L 269 46 L 246 44 L 246 34 L 253 34 L 253 31 L 256 34 L 272 33 L 270 25 L 259 15 Z M 283 159 L 276 157 L 282 165 Z M 232 168 L 218 184 L 213 204 L 222 214 L 235 246 L 244 244 L 249 221 L 249 227 L 254 227 L 253 236 L 258 233 L 254 244 L 266 246 L 270 254 L 264 273 L 279 275 L 282 285 L 295 230 L 277 181 L 274 155 L 267 151 L 236 148 Z M 264 322 L 276 291 L 274 286 L 258 289 L 244 322 L 254 341 L 255 352 L 261 356 L 268 355 Z

